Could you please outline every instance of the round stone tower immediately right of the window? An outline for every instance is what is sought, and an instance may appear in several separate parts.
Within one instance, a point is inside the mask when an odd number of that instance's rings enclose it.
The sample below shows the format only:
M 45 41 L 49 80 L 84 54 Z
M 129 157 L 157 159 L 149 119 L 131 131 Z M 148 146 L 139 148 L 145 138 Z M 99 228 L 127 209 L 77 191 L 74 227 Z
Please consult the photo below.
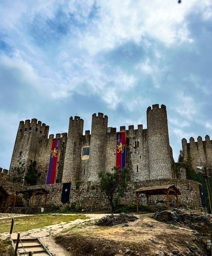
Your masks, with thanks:
M 98 173 L 105 171 L 107 128 L 107 116 L 103 113 L 92 115 L 88 181 L 97 181 Z

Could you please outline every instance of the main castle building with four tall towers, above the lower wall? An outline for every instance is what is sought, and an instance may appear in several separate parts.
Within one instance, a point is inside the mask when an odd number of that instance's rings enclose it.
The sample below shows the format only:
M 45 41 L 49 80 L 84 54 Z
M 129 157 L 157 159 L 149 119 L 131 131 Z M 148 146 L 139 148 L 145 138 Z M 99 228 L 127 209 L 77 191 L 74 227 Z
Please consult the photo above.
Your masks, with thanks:
M 103 113 L 92 115 L 90 130 L 83 135 L 83 119 L 69 119 L 67 133 L 56 134 L 60 139 L 56 166 L 56 183 L 98 181 L 98 173 L 111 171 L 116 161 L 116 128 L 108 127 Z M 37 119 L 20 121 L 9 172 L 16 182 L 24 183 L 26 166 L 36 161 L 41 173 L 38 184 L 45 184 L 52 139 L 49 126 Z M 125 126 L 120 131 L 126 130 Z M 161 178 L 180 178 L 173 166 L 172 149 L 165 105 L 147 108 L 147 129 L 143 125 L 126 130 L 126 166 L 131 181 Z M 16 180 L 17 177 L 17 180 Z

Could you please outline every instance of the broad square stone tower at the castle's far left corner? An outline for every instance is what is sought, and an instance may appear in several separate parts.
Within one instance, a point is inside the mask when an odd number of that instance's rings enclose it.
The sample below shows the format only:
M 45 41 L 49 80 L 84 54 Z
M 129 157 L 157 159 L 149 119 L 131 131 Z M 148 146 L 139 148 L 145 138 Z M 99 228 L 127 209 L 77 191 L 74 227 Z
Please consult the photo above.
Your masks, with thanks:
M 9 168 L 13 181 L 24 182 L 26 168 L 31 161 L 36 160 L 42 140 L 48 138 L 48 130 L 49 126 L 41 121 L 37 122 L 35 118 L 20 121 Z

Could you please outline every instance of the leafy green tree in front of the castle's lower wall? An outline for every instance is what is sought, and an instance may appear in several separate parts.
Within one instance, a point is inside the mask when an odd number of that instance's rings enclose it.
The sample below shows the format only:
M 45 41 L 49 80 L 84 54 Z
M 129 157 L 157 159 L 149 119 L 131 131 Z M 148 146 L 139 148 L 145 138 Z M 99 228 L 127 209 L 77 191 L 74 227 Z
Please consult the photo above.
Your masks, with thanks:
M 119 169 L 113 167 L 112 173 L 99 173 L 100 189 L 108 197 L 112 211 L 115 210 L 120 197 L 125 195 L 127 181 L 129 181 L 129 170 L 127 168 Z

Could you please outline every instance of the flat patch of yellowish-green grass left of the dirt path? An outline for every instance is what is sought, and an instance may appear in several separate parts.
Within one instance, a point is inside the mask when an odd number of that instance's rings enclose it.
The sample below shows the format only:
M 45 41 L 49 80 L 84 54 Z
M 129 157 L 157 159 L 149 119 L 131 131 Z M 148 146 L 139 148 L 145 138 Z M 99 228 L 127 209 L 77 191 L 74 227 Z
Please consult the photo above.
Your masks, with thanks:
M 54 224 L 59 224 L 61 222 L 74 221 L 76 219 L 85 220 L 87 217 L 85 215 L 62 215 L 62 214 L 40 214 L 31 215 L 24 217 L 14 218 L 14 224 L 17 232 L 32 230 L 36 228 L 43 228 L 45 226 L 50 226 Z M 0 233 L 10 231 L 11 218 L 0 220 Z

